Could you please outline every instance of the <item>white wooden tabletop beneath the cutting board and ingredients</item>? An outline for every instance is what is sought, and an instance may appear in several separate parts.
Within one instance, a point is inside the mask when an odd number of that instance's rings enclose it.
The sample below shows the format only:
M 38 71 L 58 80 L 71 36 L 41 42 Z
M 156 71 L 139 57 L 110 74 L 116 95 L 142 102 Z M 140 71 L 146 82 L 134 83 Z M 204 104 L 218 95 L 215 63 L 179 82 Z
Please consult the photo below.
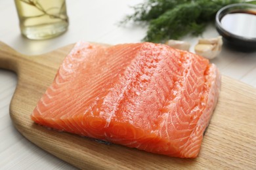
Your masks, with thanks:
M 107 44 L 139 42 L 146 33 L 145 27 L 119 27 L 117 24 L 125 14 L 133 12 L 129 5 L 134 6 L 140 2 L 66 0 L 70 18 L 68 31 L 55 39 L 31 41 L 20 35 L 14 1 L 0 0 L 0 41 L 27 55 L 43 54 L 79 40 Z M 202 37 L 217 35 L 214 25 L 209 25 Z M 193 46 L 198 38 L 184 39 Z M 243 53 L 223 48 L 221 55 L 211 62 L 219 67 L 223 75 L 256 88 L 256 52 Z M 12 126 L 9 103 L 16 83 L 14 73 L 0 69 L 0 169 L 75 169 L 30 143 Z

